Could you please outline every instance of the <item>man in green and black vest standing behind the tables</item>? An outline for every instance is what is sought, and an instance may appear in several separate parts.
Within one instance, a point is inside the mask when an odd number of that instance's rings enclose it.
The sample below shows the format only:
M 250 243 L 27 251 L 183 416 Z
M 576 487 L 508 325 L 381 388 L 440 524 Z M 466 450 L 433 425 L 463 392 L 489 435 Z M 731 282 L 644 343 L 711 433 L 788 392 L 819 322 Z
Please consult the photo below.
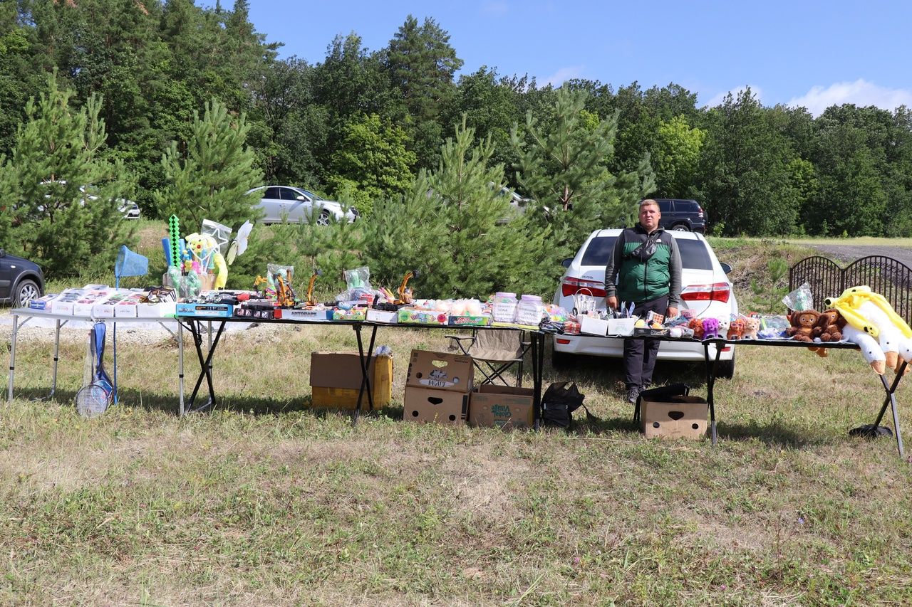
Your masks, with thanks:
M 681 259 L 678 244 L 671 234 L 658 227 L 662 214 L 658 202 L 639 203 L 639 223 L 617 236 L 615 250 L 605 268 L 605 293 L 608 307 L 617 310 L 620 298 L 640 318 L 648 312 L 678 315 L 681 293 Z M 627 400 L 637 402 L 639 393 L 652 383 L 658 340 L 624 340 L 624 382 Z

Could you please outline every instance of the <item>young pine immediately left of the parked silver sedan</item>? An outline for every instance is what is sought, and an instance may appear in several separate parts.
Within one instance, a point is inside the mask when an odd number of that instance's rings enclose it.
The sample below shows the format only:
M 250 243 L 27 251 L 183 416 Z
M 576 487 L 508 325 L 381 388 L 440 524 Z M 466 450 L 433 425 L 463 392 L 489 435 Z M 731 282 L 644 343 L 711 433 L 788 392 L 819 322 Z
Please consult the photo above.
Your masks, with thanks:
M 245 192 L 262 183 L 263 173 L 245 144 L 247 130 L 244 114 L 232 118 L 212 99 L 202 119 L 194 116 L 191 139 L 180 148 L 171 142 L 162 155 L 168 186 L 157 204 L 166 217 L 177 215 L 184 231 L 198 231 L 204 219 L 233 228 L 256 219 L 256 201 Z

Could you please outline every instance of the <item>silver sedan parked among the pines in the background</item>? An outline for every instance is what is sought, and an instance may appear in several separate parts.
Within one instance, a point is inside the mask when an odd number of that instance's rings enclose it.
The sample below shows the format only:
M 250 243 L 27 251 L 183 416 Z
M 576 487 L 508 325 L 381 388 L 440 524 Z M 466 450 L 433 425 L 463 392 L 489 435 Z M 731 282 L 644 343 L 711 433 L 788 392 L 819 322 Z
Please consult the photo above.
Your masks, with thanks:
M 260 199 L 259 207 L 263 209 L 263 223 L 309 223 L 326 225 L 331 217 L 337 221 L 351 223 L 358 219 L 355 207 L 344 207 L 336 201 L 326 201 L 314 192 L 293 188 L 292 186 L 261 186 L 247 191 Z

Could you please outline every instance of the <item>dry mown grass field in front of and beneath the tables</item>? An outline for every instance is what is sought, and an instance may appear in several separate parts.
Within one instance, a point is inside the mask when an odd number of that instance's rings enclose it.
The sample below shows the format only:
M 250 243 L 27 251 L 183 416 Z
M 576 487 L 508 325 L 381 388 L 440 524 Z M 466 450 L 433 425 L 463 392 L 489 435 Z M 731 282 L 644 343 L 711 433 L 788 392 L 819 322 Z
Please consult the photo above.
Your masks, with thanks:
M 61 346 L 50 402 L 28 399 L 47 393 L 50 345 L 20 342 L 0 604 L 912 602 L 910 468 L 892 439 L 847 434 L 883 398 L 853 351 L 741 348 L 716 386 L 713 448 L 641 437 L 611 359 L 545 365 L 600 418 L 569 434 L 406 423 L 409 351 L 445 340 L 380 329 L 378 343 L 394 402 L 352 427 L 308 407 L 309 354 L 354 350 L 347 327 L 228 334 L 221 404 L 186 418 L 173 342 L 121 343 L 122 404 L 94 420 L 72 405 L 82 340 Z M 699 365 L 657 377 L 705 395 Z

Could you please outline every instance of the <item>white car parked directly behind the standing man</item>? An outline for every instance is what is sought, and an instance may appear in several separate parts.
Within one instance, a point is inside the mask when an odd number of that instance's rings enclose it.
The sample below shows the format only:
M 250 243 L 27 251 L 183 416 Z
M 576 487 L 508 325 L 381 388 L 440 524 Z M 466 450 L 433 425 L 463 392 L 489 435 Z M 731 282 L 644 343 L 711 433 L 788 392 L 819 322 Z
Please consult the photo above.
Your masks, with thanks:
M 565 260 L 566 272 L 561 277 L 554 304 L 565 310 L 574 308 L 576 293 L 596 297 L 596 308 L 605 308 L 605 264 L 614 251 L 620 230 L 596 230 L 589 235 L 573 259 Z M 681 257 L 681 301 L 679 310 L 692 310 L 700 318 L 725 318 L 738 314 L 738 302 L 726 273 L 728 264 L 720 263 L 710 243 L 702 234 L 690 231 L 669 231 Z M 564 364 L 572 355 L 624 356 L 621 338 L 594 337 L 589 335 L 554 335 L 554 364 Z M 716 346 L 710 345 L 710 357 L 715 357 Z M 658 348 L 658 360 L 703 361 L 703 346 L 693 342 L 663 341 Z M 731 378 L 735 370 L 735 348 L 722 347 L 719 365 L 720 377 Z

